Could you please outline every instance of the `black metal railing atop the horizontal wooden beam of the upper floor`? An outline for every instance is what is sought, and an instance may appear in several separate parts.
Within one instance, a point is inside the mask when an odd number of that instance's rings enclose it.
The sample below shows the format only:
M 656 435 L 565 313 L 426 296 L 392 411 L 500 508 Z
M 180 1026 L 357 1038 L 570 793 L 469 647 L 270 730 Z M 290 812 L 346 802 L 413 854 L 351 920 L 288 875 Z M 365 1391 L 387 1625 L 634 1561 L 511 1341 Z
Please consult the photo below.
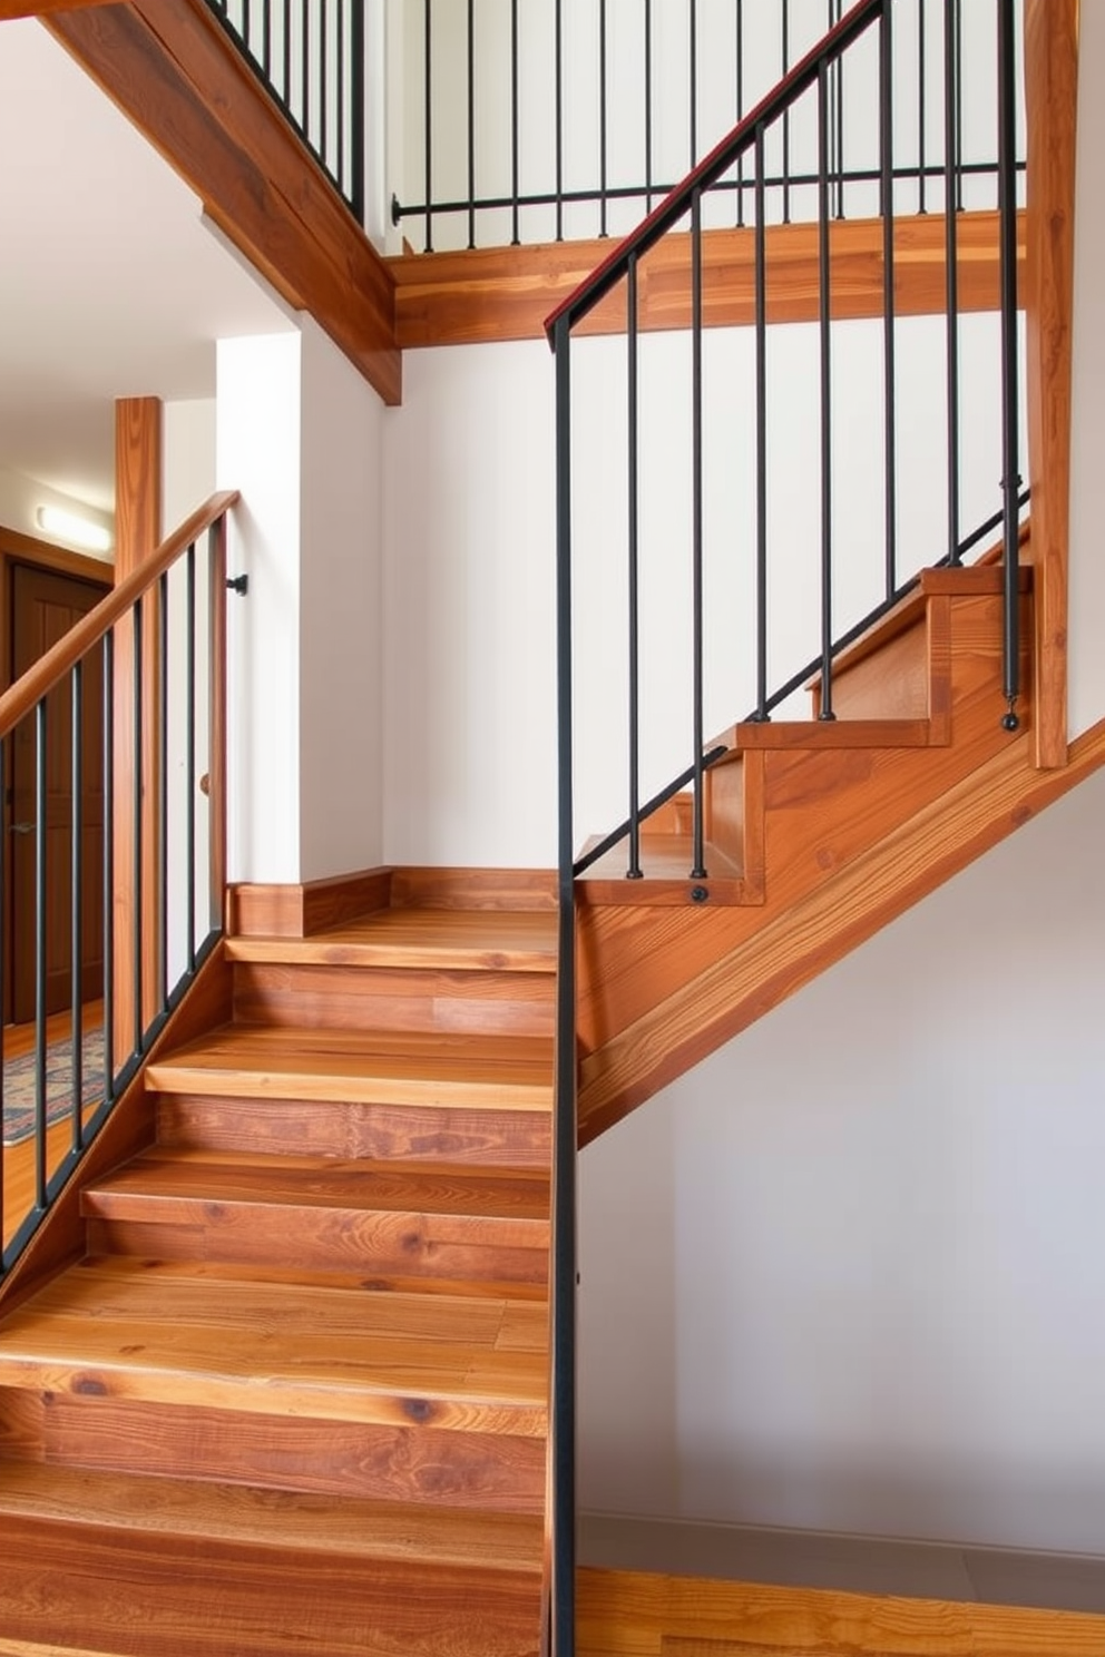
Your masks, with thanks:
M 939 196 L 948 133 L 933 93 L 946 50 L 956 83 L 949 114 L 958 207 L 992 207 L 997 152 L 987 143 L 992 134 L 967 118 L 972 98 L 964 85 L 974 73 L 977 7 L 918 0 L 910 10 L 898 70 L 916 98 L 900 118 L 898 210 L 928 212 L 934 189 Z M 843 0 L 734 0 L 714 8 L 701 0 L 510 0 L 509 8 L 502 0 L 399 0 L 393 222 L 424 252 L 621 235 L 842 13 Z M 866 68 L 853 70 L 870 81 Z M 827 143 L 832 212 L 840 219 L 863 215 L 881 182 L 875 134 L 855 118 L 861 91 L 843 81 L 835 61 Z M 815 217 L 818 161 L 810 139 L 782 116 L 764 174 L 782 224 Z M 717 222 L 727 215 L 746 224 L 752 174 L 737 164 L 714 189 L 727 197 Z

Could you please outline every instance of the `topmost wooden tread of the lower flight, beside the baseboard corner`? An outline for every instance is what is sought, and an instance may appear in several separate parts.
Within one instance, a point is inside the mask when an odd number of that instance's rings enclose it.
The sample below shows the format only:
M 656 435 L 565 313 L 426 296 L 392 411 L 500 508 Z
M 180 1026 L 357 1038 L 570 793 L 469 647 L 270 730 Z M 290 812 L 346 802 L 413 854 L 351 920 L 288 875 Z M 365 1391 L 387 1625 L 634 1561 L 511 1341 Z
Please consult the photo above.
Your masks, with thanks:
M 484 910 L 378 910 L 308 938 L 229 938 L 232 961 L 555 973 L 557 916 Z

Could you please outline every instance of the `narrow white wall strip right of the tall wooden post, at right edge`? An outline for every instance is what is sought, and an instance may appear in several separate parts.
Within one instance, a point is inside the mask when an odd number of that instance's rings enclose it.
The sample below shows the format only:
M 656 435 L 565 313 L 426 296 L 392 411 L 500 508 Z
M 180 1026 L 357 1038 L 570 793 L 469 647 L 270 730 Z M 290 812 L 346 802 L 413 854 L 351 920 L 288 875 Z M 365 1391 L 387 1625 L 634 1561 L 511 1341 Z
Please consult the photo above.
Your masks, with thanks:
M 1070 454 L 1070 704 L 1078 736 L 1105 716 L 1105 557 L 1102 557 L 1102 454 L 1105 454 L 1105 7 L 1083 5 L 1078 60 L 1075 182 L 1074 401 Z

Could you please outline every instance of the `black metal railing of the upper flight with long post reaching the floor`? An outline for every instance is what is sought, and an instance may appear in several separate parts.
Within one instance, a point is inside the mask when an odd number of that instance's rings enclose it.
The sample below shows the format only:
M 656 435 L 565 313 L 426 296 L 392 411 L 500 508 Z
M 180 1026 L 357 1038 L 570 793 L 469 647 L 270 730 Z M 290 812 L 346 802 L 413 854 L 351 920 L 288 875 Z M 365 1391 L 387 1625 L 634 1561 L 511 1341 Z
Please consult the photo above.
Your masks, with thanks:
M 560 747 L 560 1014 L 557 1034 L 557 1120 L 555 1120 L 555 1241 L 553 1241 L 553 1592 L 552 1649 L 557 1657 L 573 1652 L 573 1422 L 575 1422 L 575 1152 L 577 1152 L 577 1047 L 575 1047 L 575 880 L 593 857 L 611 845 L 626 845 L 625 873 L 641 875 L 641 824 L 673 792 L 691 785 L 692 833 L 688 853 L 688 882 L 697 882 L 707 870 L 704 779 L 717 757 L 706 742 L 707 688 L 736 683 L 732 663 L 747 663 L 746 678 L 752 699 L 750 717 L 767 721 L 790 694 L 802 688 L 810 673 L 820 674 L 820 717 L 832 721 L 833 669 L 840 648 L 891 608 L 914 585 L 916 572 L 926 563 L 961 563 L 991 530 L 1004 535 L 1006 572 L 1006 641 L 1004 696 L 1006 726 L 1017 726 L 1019 684 L 1019 578 L 1017 548 L 1021 509 L 1019 414 L 1019 320 L 1017 320 L 1017 73 L 1016 73 L 1016 3 L 1014 0 L 972 0 L 972 27 L 986 12 L 989 20 L 986 61 L 989 65 L 994 113 L 994 152 L 999 176 L 999 262 L 1001 308 L 996 336 L 996 360 L 987 371 L 974 363 L 977 351 L 971 336 L 966 348 L 964 318 L 959 308 L 959 207 L 966 200 L 958 134 L 967 119 L 966 81 L 961 73 L 959 30 L 963 8 L 954 0 L 941 7 L 943 35 L 939 63 L 916 63 L 924 75 L 924 93 L 914 86 L 911 109 L 929 111 L 933 75 L 938 75 L 943 124 L 939 174 L 923 167 L 916 186 L 926 191 L 926 210 L 943 215 L 946 315 L 928 318 L 929 331 L 919 346 L 926 379 L 939 383 L 939 399 L 921 413 L 916 408 L 916 384 L 903 373 L 903 340 L 913 326 L 896 313 L 898 249 L 895 214 L 901 192 L 898 167 L 901 83 L 896 73 L 895 25 L 905 13 L 895 0 L 860 0 L 833 23 L 833 28 L 770 91 L 737 128 L 663 200 L 649 217 L 595 270 L 548 320 L 547 331 L 555 351 L 557 381 L 557 628 L 558 628 L 558 747 Z M 865 66 L 865 68 L 863 68 Z M 840 328 L 856 328 L 840 321 L 833 310 L 832 220 L 837 214 L 838 149 L 833 147 L 833 124 L 840 104 L 863 86 L 863 73 L 875 73 L 873 118 L 876 131 L 876 215 L 881 219 L 881 320 L 860 326 L 870 330 L 860 340 L 852 333 L 853 355 L 863 351 L 876 358 L 878 394 L 871 398 L 871 416 L 878 431 L 870 436 L 843 431 L 840 424 L 843 346 Z M 870 85 L 870 81 L 868 81 Z M 843 91 L 842 91 L 843 88 Z M 852 91 L 848 91 L 852 88 Z M 850 114 L 850 104 L 845 113 Z M 815 144 L 815 268 L 817 302 L 808 325 L 808 353 L 803 373 L 787 376 L 785 394 L 790 421 L 785 431 L 772 424 L 777 409 L 777 381 L 772 376 L 779 335 L 797 350 L 795 328 L 769 328 L 769 295 L 772 267 L 769 258 L 770 225 L 777 222 L 769 207 L 777 172 L 772 157 L 794 159 L 799 138 Z M 924 149 L 923 149 L 924 154 Z M 794 191 L 794 179 L 790 181 Z M 739 356 L 732 330 L 707 330 L 704 325 L 704 278 L 709 265 L 709 225 L 717 222 L 717 199 L 731 217 L 737 199 L 747 202 L 747 225 L 754 242 L 755 325 L 744 358 Z M 780 186 L 787 199 L 787 181 Z M 785 209 L 782 209 L 785 210 Z M 653 249 L 678 234 L 688 245 L 688 315 L 686 361 L 683 363 L 686 394 L 673 396 L 671 361 L 679 341 L 673 335 L 653 336 L 668 353 L 668 373 L 646 360 L 641 321 L 641 270 Z M 625 355 L 615 360 L 613 341 L 580 340 L 595 308 L 623 307 Z M 674 341 L 674 343 L 673 343 Z M 595 356 L 596 346 L 601 355 Z M 621 345 L 616 346 L 621 351 Z M 712 360 L 707 353 L 712 351 Z M 590 353 L 590 355 L 588 355 Z M 913 355 L 918 355 L 916 341 Z M 711 374 L 711 368 L 714 373 Z M 933 376 L 933 370 L 936 374 Z M 860 373 L 858 368 L 853 370 Z M 577 394 L 578 383 L 583 381 Z M 709 389 L 709 396 L 707 396 Z M 805 393 L 805 394 L 803 394 Z M 610 396 L 610 403 L 603 398 Z M 651 398 L 651 401 L 649 401 Z M 795 414 L 808 408 L 810 439 L 805 452 L 799 446 Z M 967 421 L 969 409 L 969 421 Z M 746 421 L 746 411 L 750 418 Z M 943 413 L 943 419 L 939 418 Z M 580 437 L 577 423 L 590 424 Z M 964 447 L 974 428 L 994 432 L 982 466 L 981 482 L 971 472 L 971 489 L 964 487 Z M 934 436 L 926 449 L 929 428 Z M 969 429 L 967 429 L 969 428 Z M 658 436 L 659 432 L 659 436 Z M 648 452 L 643 449 L 648 444 Z M 601 451 L 595 454 L 593 451 Z M 853 454 L 858 469 L 850 474 L 850 492 L 858 507 L 848 524 L 866 543 L 875 563 L 878 595 L 842 615 L 838 587 L 842 515 L 845 490 L 838 487 L 838 471 Z M 923 459 L 926 497 L 938 499 L 936 514 L 923 537 L 911 535 L 903 547 L 903 527 L 914 510 L 903 507 L 903 464 Z M 679 492 L 679 456 L 686 456 L 686 514 L 681 525 L 656 505 L 659 489 L 669 502 Z M 787 461 L 794 456 L 792 471 Z M 991 469 L 992 467 L 992 469 Z M 586 474 L 586 489 L 577 489 L 577 477 Z M 711 481 L 721 479 L 714 494 Z M 802 534 L 780 534 L 785 517 L 784 497 L 808 499 Z M 585 497 L 585 499 L 583 499 Z M 616 500 L 616 512 L 611 507 Z M 719 504 L 721 502 L 721 504 Z M 590 505 L 588 514 L 585 507 Z M 981 522 L 979 520 L 986 520 Z M 964 534 L 967 524 L 979 524 Z M 595 527 L 591 527 L 595 525 Z M 659 527 L 658 527 L 659 525 Z M 910 522 L 911 527 L 911 522 Z M 785 524 L 784 524 L 785 530 Z M 611 543 L 616 542 L 616 553 Z M 714 553 L 707 560 L 709 550 Z M 812 542 L 807 555 L 807 542 Z M 933 543 L 934 542 L 934 543 Z M 863 547 L 850 547 L 852 562 Z M 653 572 L 673 565 L 683 570 L 683 590 L 673 582 L 663 588 L 664 601 L 654 605 L 649 628 L 644 626 L 643 585 L 651 553 Z M 616 557 L 618 567 L 613 568 Z M 716 625 L 716 606 L 707 605 L 707 587 L 726 587 L 726 568 L 741 567 L 747 603 L 731 603 L 724 626 Z M 593 630 L 598 664 L 580 659 L 573 643 L 573 585 L 578 575 L 588 601 L 577 613 Z M 741 583 L 731 583 L 739 592 Z M 732 592 L 729 597 L 732 597 Z M 613 597 L 611 597 L 613 595 Z M 808 641 L 789 643 L 790 659 L 775 648 L 774 618 L 780 610 L 808 610 Z M 707 650 L 711 628 L 716 633 L 712 653 Z M 683 633 L 683 669 L 679 679 L 678 640 Z M 616 656 L 625 656 L 625 681 L 611 686 Z M 709 658 L 709 659 L 707 659 Z M 789 671 L 794 664 L 797 671 Z M 711 668 L 716 671 L 711 673 Z M 593 732 L 613 729 L 603 698 L 615 709 L 620 741 L 626 761 L 625 820 L 620 827 L 577 858 L 578 830 L 575 804 L 575 724 L 573 701 L 580 688 L 593 684 L 580 717 Z M 606 696 L 606 686 L 613 696 Z M 646 704 L 644 693 L 649 693 Z M 714 696 L 716 699 L 716 696 Z M 686 708 L 686 724 L 674 739 L 676 764 L 668 764 L 673 739 L 649 747 L 646 729 L 649 713 L 658 706 L 664 714 L 674 704 Z M 729 706 L 719 726 L 732 722 Z M 591 736 L 593 746 L 593 736 Z M 651 792 L 663 777 L 673 777 Z M 613 815 L 613 814 L 611 814 Z M 591 824 L 586 824 L 591 827 Z

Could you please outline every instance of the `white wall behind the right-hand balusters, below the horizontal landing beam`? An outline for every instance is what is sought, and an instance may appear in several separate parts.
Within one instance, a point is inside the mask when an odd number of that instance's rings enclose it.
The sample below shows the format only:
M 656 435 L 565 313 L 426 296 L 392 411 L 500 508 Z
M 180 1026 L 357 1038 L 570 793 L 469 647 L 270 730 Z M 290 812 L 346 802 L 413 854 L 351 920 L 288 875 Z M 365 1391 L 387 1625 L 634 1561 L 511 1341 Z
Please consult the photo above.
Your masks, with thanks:
M 999 325 L 963 318 L 961 530 L 1001 505 Z M 900 578 L 946 552 L 939 318 L 898 326 Z M 626 812 L 623 338 L 573 350 L 577 843 Z M 706 731 L 755 701 L 750 330 L 704 338 Z M 833 623 L 883 597 L 881 323 L 833 330 Z M 820 650 L 813 326 L 769 338 L 770 688 Z M 692 759 L 688 335 L 641 341 L 643 797 Z M 540 343 L 409 351 L 384 431 L 391 862 L 555 862 L 553 361 Z M 807 701 L 800 709 L 807 711 Z

